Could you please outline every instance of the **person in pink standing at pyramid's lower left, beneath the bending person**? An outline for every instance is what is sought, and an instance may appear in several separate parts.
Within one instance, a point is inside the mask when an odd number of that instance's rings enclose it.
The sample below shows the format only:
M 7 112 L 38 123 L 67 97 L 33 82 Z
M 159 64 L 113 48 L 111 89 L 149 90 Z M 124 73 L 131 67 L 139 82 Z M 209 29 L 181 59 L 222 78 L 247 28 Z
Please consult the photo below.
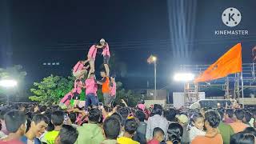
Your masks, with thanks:
M 74 107 L 77 107 L 80 103 L 79 96 L 82 93 L 82 88 L 85 87 L 83 86 L 83 82 L 81 80 L 82 78 L 84 78 L 84 75 L 80 76 L 74 81 L 74 89 L 72 90 L 72 93 L 74 94 Z

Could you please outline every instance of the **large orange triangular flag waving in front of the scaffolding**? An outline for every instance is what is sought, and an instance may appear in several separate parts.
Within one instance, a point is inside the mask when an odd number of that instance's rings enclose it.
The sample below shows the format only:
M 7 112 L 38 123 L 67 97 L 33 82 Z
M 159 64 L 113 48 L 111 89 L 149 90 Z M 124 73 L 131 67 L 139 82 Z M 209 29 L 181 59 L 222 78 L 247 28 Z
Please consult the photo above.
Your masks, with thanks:
M 194 82 L 207 82 L 238 72 L 242 72 L 241 43 L 233 46 L 226 54 L 218 58 L 218 61 L 209 66 L 198 78 L 195 78 Z

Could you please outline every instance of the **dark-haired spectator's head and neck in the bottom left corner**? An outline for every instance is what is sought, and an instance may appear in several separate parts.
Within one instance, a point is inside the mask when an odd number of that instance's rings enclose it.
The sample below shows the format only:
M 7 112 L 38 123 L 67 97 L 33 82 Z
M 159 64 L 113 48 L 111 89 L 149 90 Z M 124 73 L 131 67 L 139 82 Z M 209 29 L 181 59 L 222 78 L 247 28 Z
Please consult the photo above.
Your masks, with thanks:
M 8 137 L 2 139 L 6 144 L 22 144 L 19 138 L 26 132 L 26 115 L 18 110 L 13 110 L 5 114 L 6 130 L 10 133 Z

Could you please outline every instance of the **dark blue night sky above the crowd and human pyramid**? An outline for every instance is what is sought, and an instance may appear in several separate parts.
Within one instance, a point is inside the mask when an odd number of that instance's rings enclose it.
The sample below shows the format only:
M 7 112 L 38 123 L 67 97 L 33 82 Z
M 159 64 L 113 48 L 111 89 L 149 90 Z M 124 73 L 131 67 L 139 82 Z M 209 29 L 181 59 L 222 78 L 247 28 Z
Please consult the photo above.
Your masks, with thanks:
M 185 23 L 179 23 L 179 4 L 184 6 Z M 251 62 L 251 49 L 256 46 L 254 6 L 255 0 L 2 0 L 0 64 L 24 66 L 29 84 L 49 74 L 66 76 L 78 60 L 86 58 L 92 43 L 105 38 L 111 52 L 126 65 L 126 73 L 118 75 L 126 88 L 143 89 L 147 81 L 153 88 L 154 66 L 146 63 L 150 54 L 158 56 L 158 88 L 174 86 L 171 74 L 179 64 L 213 63 L 238 42 L 242 42 L 243 62 Z M 228 7 L 240 10 L 238 26 L 223 24 L 222 12 Z M 172 24 L 186 26 L 191 37 L 177 37 Z M 249 35 L 220 36 L 214 30 L 249 30 Z M 179 46 L 186 47 L 185 55 Z M 99 70 L 100 54 L 97 61 Z M 60 62 L 60 66 L 43 66 L 43 62 Z

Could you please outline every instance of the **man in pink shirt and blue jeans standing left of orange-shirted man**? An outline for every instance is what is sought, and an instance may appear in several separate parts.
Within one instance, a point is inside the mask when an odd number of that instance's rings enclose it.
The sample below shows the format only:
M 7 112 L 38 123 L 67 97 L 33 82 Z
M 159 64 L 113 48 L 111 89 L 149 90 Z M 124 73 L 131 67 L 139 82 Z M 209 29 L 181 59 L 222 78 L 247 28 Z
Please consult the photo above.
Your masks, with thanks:
M 90 74 L 90 78 L 86 79 L 86 106 L 85 110 L 88 109 L 88 106 L 98 106 L 98 97 L 97 97 L 97 90 L 98 86 L 96 83 L 95 74 Z

